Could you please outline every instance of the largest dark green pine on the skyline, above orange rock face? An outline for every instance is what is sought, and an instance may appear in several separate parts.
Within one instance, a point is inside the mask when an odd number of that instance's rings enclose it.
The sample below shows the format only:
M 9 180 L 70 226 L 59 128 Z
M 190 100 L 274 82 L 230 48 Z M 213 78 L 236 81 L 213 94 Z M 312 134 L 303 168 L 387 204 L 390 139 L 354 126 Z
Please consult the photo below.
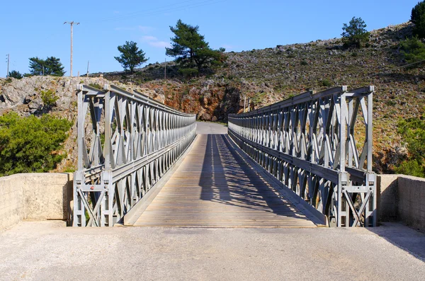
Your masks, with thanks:
M 176 26 L 170 26 L 174 38 L 171 47 L 166 48 L 166 55 L 176 57 L 176 62 L 182 67 L 183 73 L 199 74 L 203 69 L 210 69 L 222 64 L 225 60 L 224 48 L 212 50 L 200 35 L 198 26 L 188 25 L 181 20 Z

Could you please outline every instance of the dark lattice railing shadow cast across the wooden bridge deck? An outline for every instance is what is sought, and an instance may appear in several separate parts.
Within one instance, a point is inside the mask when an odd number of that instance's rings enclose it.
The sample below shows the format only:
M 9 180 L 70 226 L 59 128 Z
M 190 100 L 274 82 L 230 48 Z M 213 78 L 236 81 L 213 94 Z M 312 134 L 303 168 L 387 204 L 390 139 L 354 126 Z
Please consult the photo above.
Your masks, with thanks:
M 209 134 L 199 185 L 200 200 L 300 217 L 234 150 L 227 134 Z

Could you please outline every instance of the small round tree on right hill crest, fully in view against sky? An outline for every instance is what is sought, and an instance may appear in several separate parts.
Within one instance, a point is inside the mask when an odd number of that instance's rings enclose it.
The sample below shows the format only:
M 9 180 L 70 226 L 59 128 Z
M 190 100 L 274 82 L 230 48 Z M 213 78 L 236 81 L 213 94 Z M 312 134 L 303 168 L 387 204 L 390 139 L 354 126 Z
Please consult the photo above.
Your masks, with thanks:
M 361 18 L 353 17 L 348 23 L 342 25 L 343 33 L 341 33 L 342 41 L 346 47 L 362 47 L 363 44 L 369 41 L 368 31 L 366 30 L 366 24 Z

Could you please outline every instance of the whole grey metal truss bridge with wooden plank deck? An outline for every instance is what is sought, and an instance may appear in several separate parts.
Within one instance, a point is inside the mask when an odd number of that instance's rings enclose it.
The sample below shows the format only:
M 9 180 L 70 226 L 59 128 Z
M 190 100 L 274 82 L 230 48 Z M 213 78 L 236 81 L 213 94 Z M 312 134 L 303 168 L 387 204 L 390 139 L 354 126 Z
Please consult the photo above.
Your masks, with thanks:
M 74 226 L 375 226 L 373 86 L 306 92 L 228 134 L 137 91 L 78 88 Z

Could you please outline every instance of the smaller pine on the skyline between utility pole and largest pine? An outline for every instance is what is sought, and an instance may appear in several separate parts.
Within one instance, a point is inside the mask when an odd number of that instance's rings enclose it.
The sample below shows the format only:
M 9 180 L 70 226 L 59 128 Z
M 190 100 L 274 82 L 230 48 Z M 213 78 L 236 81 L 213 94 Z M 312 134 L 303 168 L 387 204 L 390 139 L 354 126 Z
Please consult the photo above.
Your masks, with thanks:
M 134 73 L 135 67 L 147 62 L 149 59 L 145 57 L 145 52 L 137 47 L 136 42 L 125 41 L 125 44 L 118 46 L 118 51 L 121 52 L 120 57 L 115 57 L 116 60 L 123 66 L 125 70 L 130 69 L 131 73 Z

